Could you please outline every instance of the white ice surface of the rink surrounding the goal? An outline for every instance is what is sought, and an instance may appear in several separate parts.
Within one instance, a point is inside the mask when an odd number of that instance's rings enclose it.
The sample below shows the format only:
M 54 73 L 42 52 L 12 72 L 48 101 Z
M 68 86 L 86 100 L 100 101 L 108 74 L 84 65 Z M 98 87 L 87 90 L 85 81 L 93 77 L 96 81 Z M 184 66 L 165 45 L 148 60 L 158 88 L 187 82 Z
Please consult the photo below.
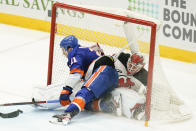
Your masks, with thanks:
M 32 88 L 47 80 L 49 33 L 0 24 L 0 104 L 31 101 Z M 144 122 L 104 113 L 82 112 L 68 126 L 53 125 L 61 111 L 37 110 L 30 105 L 4 106 L 0 112 L 20 109 L 16 118 L 0 117 L 0 131 L 196 131 L 196 64 L 162 58 L 171 86 L 192 111 L 190 120 L 175 123 Z

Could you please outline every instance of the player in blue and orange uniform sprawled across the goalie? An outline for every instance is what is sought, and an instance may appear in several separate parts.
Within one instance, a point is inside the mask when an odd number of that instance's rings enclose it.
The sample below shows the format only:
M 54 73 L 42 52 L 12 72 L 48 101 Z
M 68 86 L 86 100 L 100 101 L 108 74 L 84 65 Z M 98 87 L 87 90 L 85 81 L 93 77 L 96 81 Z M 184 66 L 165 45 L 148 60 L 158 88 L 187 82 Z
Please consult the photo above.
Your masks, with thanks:
M 69 106 L 63 114 L 54 115 L 51 122 L 66 125 L 89 102 L 116 88 L 118 73 L 111 56 L 101 56 L 94 50 L 80 46 L 78 39 L 73 35 L 65 37 L 61 41 L 60 47 L 68 58 L 67 65 L 70 68 L 66 86 L 63 87 L 60 95 L 60 103 L 63 106 L 68 104 Z M 93 66 L 91 66 L 92 69 L 89 73 L 87 70 L 92 63 Z M 81 78 L 85 78 L 84 84 L 71 102 L 69 97 L 72 94 L 72 89 Z

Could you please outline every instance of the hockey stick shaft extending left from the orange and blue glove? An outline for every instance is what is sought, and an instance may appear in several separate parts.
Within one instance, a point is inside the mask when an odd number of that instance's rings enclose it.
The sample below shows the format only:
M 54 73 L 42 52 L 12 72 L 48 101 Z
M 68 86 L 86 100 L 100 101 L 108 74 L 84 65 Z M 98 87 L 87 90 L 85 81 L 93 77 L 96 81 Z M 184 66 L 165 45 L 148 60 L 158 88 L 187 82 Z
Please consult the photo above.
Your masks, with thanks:
M 14 106 L 14 105 L 30 105 L 30 104 L 41 104 L 41 103 L 58 103 L 59 100 L 49 100 L 49 101 L 32 101 L 32 102 L 17 102 L 17 103 L 6 103 L 0 104 L 0 106 Z

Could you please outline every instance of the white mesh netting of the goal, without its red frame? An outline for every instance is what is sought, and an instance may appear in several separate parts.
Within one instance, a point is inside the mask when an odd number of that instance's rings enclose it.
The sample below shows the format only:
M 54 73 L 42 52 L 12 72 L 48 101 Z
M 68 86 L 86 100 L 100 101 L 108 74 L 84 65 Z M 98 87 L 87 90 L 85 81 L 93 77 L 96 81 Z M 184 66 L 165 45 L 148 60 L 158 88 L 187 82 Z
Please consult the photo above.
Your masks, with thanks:
M 90 6 L 83 7 L 152 21 L 157 24 L 157 31 L 159 30 L 161 25 L 159 21 L 153 18 L 135 14 L 129 10 Z M 89 47 L 96 43 L 99 43 L 101 48 L 107 55 L 118 53 L 123 47 L 128 44 L 123 30 L 123 25 L 125 23 L 125 21 L 123 20 L 111 19 L 84 13 L 82 11 L 75 11 L 60 7 L 57 8 L 56 16 L 56 26 L 52 27 L 55 28 L 55 35 L 52 76 L 49 76 L 52 77 L 51 84 L 64 83 L 66 81 L 66 76 L 69 74 L 67 59 L 63 55 L 63 52 L 59 46 L 60 41 L 65 36 L 75 35 L 79 40 L 79 44 L 82 46 Z M 140 52 L 145 56 L 145 69 L 148 70 L 151 27 L 132 23 L 132 28 L 129 30 L 132 31 L 134 37 L 140 35 L 143 32 L 141 37 L 137 37 L 136 42 L 139 46 Z M 124 52 L 130 53 L 130 49 L 127 48 L 126 50 L 124 50 Z M 164 75 L 160 63 L 158 42 L 156 43 L 154 54 L 151 96 L 148 96 L 146 99 L 150 98 L 151 108 L 147 111 L 151 112 L 152 120 L 160 119 L 167 121 L 178 121 L 191 117 L 190 112 L 184 110 L 186 109 L 184 108 L 184 102 L 173 91 L 172 87 L 167 81 L 167 78 Z

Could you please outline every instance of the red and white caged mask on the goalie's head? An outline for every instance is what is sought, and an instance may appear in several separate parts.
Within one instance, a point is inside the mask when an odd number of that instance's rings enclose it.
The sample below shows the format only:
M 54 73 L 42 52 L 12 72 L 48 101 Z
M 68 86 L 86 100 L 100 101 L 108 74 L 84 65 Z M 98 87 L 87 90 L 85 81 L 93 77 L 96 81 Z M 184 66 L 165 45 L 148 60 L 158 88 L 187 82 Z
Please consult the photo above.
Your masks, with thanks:
M 144 67 L 144 58 L 142 55 L 133 54 L 127 61 L 128 75 L 134 75 Z

